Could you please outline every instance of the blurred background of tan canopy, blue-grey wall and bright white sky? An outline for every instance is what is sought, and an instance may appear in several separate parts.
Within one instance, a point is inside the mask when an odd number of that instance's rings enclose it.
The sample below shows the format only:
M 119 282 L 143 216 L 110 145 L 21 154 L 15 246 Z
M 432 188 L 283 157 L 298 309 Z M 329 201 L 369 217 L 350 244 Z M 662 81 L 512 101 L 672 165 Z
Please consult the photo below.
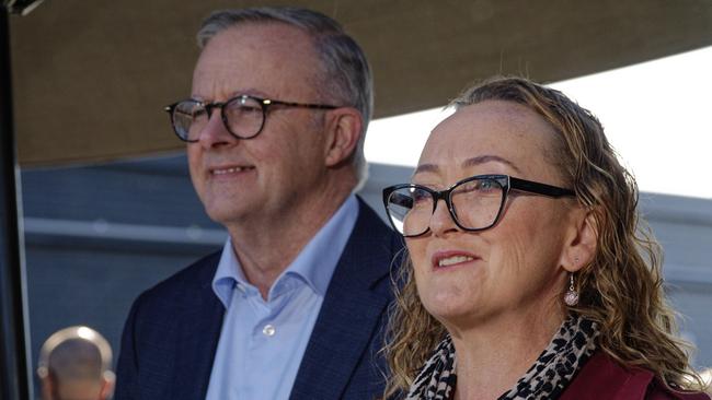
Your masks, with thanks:
M 211 10 L 286 3 L 47 0 L 9 17 L 24 263 L 0 267 L 24 273 L 32 373 L 43 341 L 71 325 L 118 353 L 134 298 L 221 247 L 162 106 L 190 94 Z M 711 1 L 289 4 L 335 17 L 369 57 L 361 196 L 381 213 L 381 188 L 410 179 L 443 107 L 478 80 L 524 74 L 596 114 L 639 180 L 694 365 L 712 365 Z

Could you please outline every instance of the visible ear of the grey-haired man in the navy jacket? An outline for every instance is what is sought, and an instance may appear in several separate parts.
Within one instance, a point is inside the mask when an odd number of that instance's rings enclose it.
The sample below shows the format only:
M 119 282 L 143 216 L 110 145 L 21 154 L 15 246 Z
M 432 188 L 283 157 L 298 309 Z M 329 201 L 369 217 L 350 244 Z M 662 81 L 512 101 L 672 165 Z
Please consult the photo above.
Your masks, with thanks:
M 326 118 L 326 141 L 324 162 L 332 167 L 349 160 L 361 137 L 364 121 L 353 107 L 341 107 L 329 111 Z

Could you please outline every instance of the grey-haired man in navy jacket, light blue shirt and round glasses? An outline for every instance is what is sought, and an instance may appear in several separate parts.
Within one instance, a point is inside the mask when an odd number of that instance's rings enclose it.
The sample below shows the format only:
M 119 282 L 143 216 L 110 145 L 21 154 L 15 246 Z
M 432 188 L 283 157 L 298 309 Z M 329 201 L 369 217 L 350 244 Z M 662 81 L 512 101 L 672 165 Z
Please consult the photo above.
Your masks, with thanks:
M 229 239 L 136 301 L 117 399 L 371 399 L 402 245 L 353 195 L 366 58 L 303 9 L 218 12 L 198 42 L 191 98 L 166 109 Z

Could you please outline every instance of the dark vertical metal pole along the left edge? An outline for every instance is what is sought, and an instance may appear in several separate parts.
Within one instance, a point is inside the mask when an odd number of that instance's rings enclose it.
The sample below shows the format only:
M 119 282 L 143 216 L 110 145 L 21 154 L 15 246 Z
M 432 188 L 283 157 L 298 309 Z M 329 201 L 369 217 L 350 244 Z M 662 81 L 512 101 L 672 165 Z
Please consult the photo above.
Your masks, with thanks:
M 8 8 L 0 12 L 0 399 L 31 399 L 26 293 L 10 73 Z

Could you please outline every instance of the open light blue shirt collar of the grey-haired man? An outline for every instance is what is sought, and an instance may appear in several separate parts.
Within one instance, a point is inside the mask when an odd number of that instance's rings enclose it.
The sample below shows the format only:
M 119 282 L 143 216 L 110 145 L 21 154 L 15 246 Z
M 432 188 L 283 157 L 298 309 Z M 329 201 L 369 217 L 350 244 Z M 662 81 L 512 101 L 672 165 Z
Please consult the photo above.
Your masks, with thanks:
M 324 296 L 341 254 L 356 225 L 357 217 L 358 201 L 356 196 L 351 195 L 275 280 L 275 284 L 269 290 L 269 297 L 272 297 L 272 291 L 277 286 L 277 282 L 288 275 L 302 280 L 312 291 Z M 232 299 L 232 290 L 238 284 L 244 286 L 246 291 L 257 291 L 244 278 L 242 267 L 232 248 L 232 242 L 228 237 L 213 278 L 213 291 L 226 308 Z

